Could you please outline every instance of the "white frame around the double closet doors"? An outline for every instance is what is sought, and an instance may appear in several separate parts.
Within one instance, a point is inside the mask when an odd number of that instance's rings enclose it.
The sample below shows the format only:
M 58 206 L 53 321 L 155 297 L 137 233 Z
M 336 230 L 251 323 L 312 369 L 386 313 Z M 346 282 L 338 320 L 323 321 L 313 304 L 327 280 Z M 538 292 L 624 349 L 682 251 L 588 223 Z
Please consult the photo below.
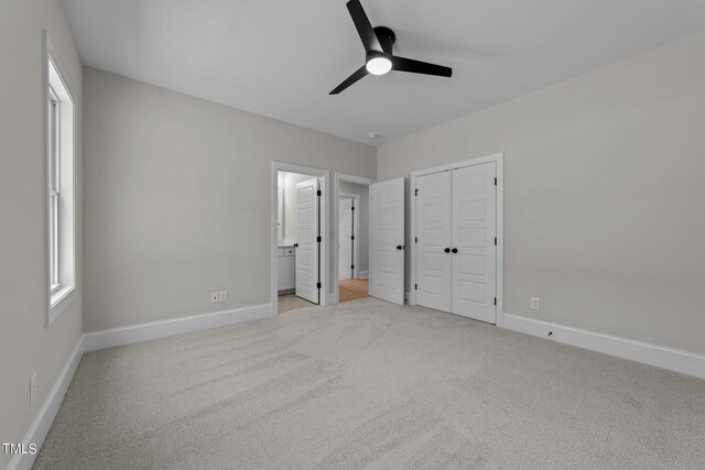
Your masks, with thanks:
M 448 163 L 446 165 L 434 166 L 433 168 L 419 170 L 411 174 L 411 292 L 409 293 L 409 304 L 416 305 L 416 178 L 433 173 L 447 172 L 463 168 L 465 166 L 481 165 L 482 163 L 495 162 L 497 164 L 497 323 L 498 327 L 503 326 L 505 314 L 505 154 L 494 153 L 491 155 L 478 156 L 460 162 Z

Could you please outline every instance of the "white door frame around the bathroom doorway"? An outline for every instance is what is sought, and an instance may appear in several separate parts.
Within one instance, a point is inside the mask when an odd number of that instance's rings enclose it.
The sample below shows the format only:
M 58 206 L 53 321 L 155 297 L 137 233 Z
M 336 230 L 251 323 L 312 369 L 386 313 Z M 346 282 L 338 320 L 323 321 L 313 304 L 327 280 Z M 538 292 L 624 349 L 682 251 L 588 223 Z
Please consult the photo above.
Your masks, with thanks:
M 289 173 L 299 173 L 302 175 L 319 177 L 321 178 L 321 220 L 319 220 L 319 230 L 321 230 L 321 305 L 328 305 L 329 300 L 329 280 L 328 280 L 328 266 L 329 266 L 329 256 L 328 256 L 328 233 L 330 230 L 329 227 L 329 214 L 330 208 L 328 207 L 328 185 L 330 179 L 330 172 L 327 170 L 313 168 L 310 166 L 294 165 L 291 163 L 280 163 L 272 162 L 271 171 L 270 171 L 270 272 L 271 272 L 271 289 L 270 289 L 270 299 L 272 304 L 272 316 L 275 317 L 279 313 L 279 289 L 278 289 L 278 280 L 279 280 L 279 270 L 278 270 L 278 258 L 279 258 L 279 237 L 278 237 L 278 226 L 276 226 L 276 211 L 278 211 L 278 188 L 279 188 L 279 172 L 289 172 Z M 336 209 L 337 211 L 337 209 Z M 336 273 L 337 274 L 337 273 Z M 337 282 L 335 283 L 337 286 Z

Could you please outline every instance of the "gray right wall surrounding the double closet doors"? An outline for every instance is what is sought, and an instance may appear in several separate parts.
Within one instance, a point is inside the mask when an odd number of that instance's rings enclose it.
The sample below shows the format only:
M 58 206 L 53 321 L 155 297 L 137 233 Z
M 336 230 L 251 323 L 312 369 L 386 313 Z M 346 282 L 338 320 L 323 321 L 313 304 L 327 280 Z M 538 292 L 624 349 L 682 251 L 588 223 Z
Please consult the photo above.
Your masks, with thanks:
M 705 353 L 704 57 L 698 34 L 383 145 L 378 179 L 505 152 L 505 311 Z

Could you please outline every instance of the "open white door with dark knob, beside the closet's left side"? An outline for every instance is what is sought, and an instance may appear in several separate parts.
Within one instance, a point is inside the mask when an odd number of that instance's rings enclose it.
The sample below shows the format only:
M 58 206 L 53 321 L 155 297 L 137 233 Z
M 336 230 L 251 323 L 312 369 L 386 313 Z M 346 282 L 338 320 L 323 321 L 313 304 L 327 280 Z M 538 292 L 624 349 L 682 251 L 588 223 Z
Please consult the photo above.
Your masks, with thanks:
M 370 185 L 370 296 L 404 303 L 404 178 Z

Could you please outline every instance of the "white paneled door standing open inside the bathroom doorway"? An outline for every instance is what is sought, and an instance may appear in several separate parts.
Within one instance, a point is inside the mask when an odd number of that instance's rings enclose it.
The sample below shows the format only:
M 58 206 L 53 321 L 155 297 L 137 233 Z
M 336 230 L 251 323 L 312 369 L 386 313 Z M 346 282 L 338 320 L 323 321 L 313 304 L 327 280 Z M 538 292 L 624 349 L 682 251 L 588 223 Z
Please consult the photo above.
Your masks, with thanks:
M 318 304 L 318 179 L 312 178 L 296 184 L 296 210 L 299 228 L 296 229 L 296 295 L 308 302 Z

